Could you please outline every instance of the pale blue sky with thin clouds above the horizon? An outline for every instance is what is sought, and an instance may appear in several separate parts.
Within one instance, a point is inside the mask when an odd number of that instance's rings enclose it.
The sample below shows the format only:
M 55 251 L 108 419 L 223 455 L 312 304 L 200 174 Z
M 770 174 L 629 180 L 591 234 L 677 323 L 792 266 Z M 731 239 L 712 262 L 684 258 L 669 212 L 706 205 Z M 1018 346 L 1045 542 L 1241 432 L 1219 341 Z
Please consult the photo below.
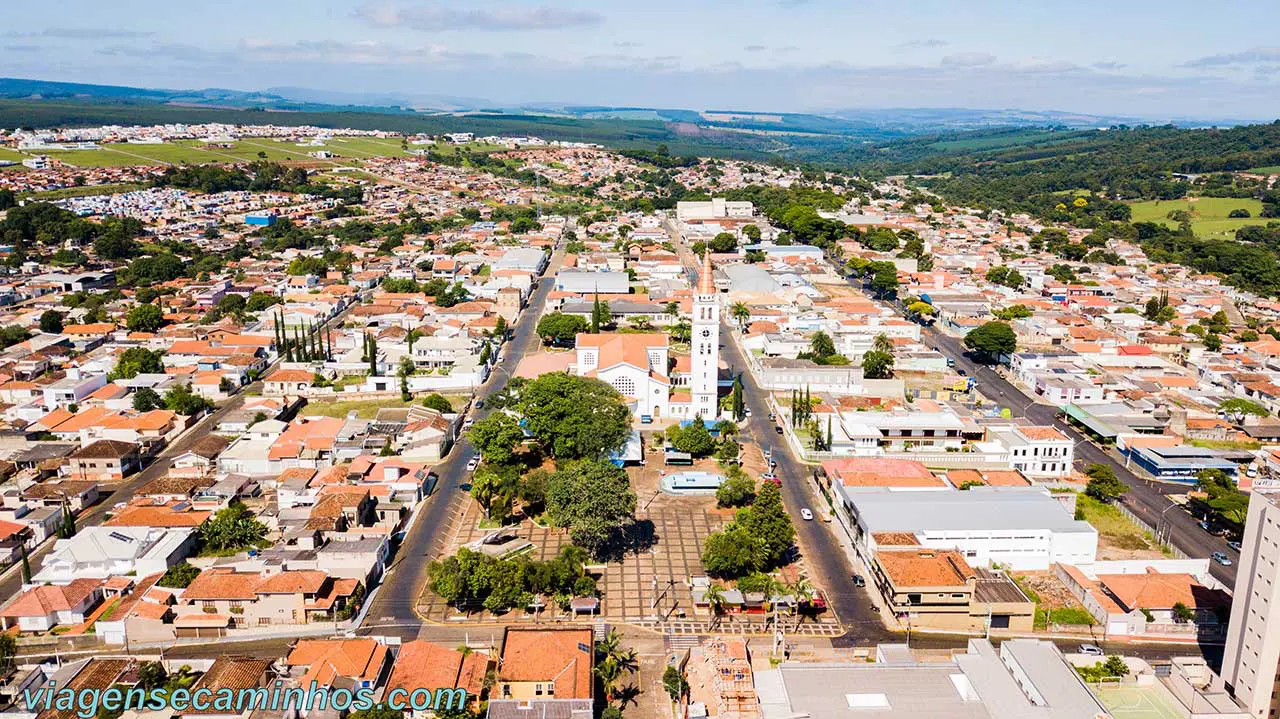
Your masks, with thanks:
M 1280 118 L 1275 1 L 5 0 L 0 75 L 355 101 L 1262 120 Z

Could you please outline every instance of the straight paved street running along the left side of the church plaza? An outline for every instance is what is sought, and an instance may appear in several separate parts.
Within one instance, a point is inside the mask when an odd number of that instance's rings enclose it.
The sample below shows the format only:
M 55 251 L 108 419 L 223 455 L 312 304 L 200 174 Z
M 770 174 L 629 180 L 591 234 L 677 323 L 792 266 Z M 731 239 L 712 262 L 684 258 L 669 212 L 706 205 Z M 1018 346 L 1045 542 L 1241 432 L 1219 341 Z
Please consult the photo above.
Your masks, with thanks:
M 512 338 L 500 352 L 500 360 L 494 366 L 489 380 L 476 391 L 477 398 L 485 398 L 506 386 L 511 375 L 515 374 L 520 358 L 535 347 L 538 335 L 534 330 L 538 319 L 547 304 L 547 296 L 556 284 L 552 278 L 564 260 L 563 251 L 557 251 L 548 265 L 547 273 L 538 283 L 529 306 L 520 313 L 516 321 Z M 481 420 L 489 415 L 489 409 L 471 412 L 471 418 Z M 402 636 L 416 636 L 422 622 L 413 612 L 417 599 L 426 585 L 426 567 L 443 550 L 449 537 L 442 530 L 448 528 L 449 517 L 453 512 L 461 510 L 466 499 L 461 489 L 468 478 L 466 471 L 467 462 L 475 455 L 475 449 L 466 438 L 458 439 L 444 462 L 433 470 L 439 475 L 435 493 L 425 500 L 417 509 L 413 525 L 401 542 L 396 559 L 387 569 L 381 587 L 372 597 L 372 605 L 361 627 L 361 633 L 399 633 Z

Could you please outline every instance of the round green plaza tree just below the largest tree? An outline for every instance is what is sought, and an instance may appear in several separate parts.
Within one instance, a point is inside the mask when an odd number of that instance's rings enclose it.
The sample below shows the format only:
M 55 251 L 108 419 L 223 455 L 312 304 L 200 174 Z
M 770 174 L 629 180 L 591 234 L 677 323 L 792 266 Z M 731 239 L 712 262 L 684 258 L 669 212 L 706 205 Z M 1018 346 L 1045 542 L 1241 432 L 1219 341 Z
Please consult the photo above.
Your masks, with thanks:
M 573 544 L 594 557 L 602 557 L 618 540 L 635 521 L 635 510 L 636 495 L 627 473 L 607 462 L 572 463 L 547 482 L 547 519 L 567 527 Z

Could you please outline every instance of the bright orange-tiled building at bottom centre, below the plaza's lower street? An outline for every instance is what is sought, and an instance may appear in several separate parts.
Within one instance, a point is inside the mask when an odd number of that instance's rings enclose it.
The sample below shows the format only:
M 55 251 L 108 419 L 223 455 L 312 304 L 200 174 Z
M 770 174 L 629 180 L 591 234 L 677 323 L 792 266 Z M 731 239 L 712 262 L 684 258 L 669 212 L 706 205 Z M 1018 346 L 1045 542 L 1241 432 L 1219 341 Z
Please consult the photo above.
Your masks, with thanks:
M 590 628 L 508 627 L 490 719 L 590 719 L 594 646 Z

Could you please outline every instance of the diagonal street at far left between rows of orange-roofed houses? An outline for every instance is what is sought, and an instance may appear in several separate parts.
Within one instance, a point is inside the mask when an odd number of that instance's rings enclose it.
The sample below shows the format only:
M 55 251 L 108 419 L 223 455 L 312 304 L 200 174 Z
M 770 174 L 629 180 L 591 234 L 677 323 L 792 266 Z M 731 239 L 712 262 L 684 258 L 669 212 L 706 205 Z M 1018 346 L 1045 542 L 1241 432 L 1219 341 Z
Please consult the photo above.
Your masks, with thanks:
M 352 306 L 348 306 L 342 312 L 334 315 L 333 319 L 325 322 L 325 325 L 326 326 L 334 324 L 340 325 L 343 319 L 351 311 L 351 307 L 353 307 L 355 304 L 356 303 L 352 303 Z M 262 376 L 270 374 L 270 371 L 278 363 L 279 361 L 269 365 L 266 370 L 262 372 Z M 248 394 L 250 390 L 260 390 L 261 388 L 262 388 L 262 380 L 259 379 L 246 385 L 243 389 L 241 389 L 241 391 L 232 395 L 223 404 L 218 406 L 216 409 L 206 415 L 204 418 L 196 422 L 193 427 L 183 432 L 177 439 L 177 441 L 160 450 L 160 454 L 155 457 L 151 464 L 147 464 L 147 467 L 143 468 L 137 475 L 133 475 L 125 478 L 124 481 L 119 482 L 114 487 L 111 487 L 109 495 L 100 499 L 99 503 L 95 504 L 93 507 L 90 507 L 88 509 L 81 512 L 76 517 L 76 526 L 92 527 L 96 525 L 101 525 L 106 518 L 106 512 L 111 507 L 114 507 L 120 502 L 128 502 L 133 499 L 134 493 L 137 493 L 140 487 L 142 487 L 143 485 L 146 485 L 152 480 L 157 480 L 164 475 L 166 475 L 169 472 L 169 466 L 173 463 L 174 458 L 180 457 L 183 453 L 191 449 L 191 445 L 196 444 L 197 440 L 202 439 L 205 435 L 212 431 L 214 427 L 218 426 L 218 422 L 220 422 L 223 417 L 225 417 L 228 413 L 239 409 L 244 404 L 246 398 L 250 397 Z M 49 555 L 52 548 L 54 542 L 46 541 L 42 545 L 40 545 L 40 549 L 31 553 L 29 563 L 32 572 L 38 571 L 41 562 L 44 562 L 45 557 Z M 0 597 L 17 596 L 20 589 L 22 589 L 22 569 L 20 569 L 20 563 L 17 563 L 13 567 L 10 567 L 9 571 L 6 571 L 3 576 L 0 576 Z

